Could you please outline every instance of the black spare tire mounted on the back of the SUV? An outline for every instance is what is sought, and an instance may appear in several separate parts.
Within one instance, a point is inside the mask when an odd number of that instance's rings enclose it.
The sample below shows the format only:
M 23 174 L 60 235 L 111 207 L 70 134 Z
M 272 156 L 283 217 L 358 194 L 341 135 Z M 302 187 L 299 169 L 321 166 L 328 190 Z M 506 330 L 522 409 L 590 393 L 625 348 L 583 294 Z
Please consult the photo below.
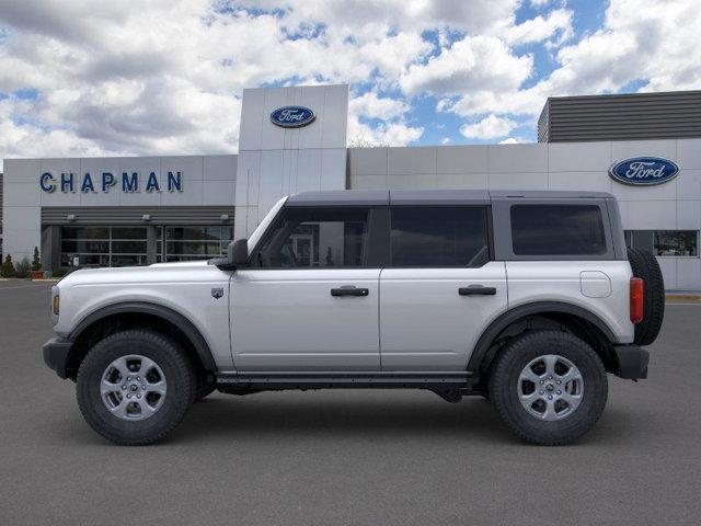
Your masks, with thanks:
M 650 252 L 628 249 L 628 261 L 631 264 L 633 275 L 645 282 L 643 287 L 643 321 L 635 324 L 634 343 L 650 345 L 657 339 L 665 318 L 665 282 L 662 277 L 659 263 Z

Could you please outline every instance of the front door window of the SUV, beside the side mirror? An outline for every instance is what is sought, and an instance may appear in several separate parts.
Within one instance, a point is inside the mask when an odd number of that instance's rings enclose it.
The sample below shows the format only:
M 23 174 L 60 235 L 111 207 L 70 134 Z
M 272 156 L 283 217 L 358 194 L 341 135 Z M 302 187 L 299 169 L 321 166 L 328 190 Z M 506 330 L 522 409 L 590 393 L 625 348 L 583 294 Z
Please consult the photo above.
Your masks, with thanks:
M 365 266 L 367 208 L 296 208 L 283 210 L 253 254 L 263 268 Z

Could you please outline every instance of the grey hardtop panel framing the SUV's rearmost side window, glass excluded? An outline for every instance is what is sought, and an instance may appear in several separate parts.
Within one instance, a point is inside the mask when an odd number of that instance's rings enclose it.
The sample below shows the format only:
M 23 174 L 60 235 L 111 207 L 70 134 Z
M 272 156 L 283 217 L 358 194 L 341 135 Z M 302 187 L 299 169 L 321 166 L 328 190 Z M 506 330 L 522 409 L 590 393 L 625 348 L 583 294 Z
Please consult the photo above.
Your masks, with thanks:
M 512 243 L 512 206 L 518 205 L 565 205 L 565 206 L 597 206 L 601 211 L 606 252 L 601 254 L 543 254 L 520 255 L 514 253 Z M 598 198 L 542 198 L 526 199 L 518 197 L 493 198 L 494 214 L 494 251 L 496 261 L 617 261 L 611 231 L 611 217 L 606 199 Z

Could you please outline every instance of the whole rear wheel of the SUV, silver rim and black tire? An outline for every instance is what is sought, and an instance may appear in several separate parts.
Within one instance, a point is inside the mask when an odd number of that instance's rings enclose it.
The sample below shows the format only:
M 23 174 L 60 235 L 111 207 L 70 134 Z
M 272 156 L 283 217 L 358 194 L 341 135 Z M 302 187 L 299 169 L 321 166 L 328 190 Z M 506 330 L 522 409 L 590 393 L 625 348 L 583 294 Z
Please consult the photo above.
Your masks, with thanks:
M 570 444 L 596 424 L 608 382 L 600 358 L 562 331 L 513 340 L 490 371 L 490 399 L 506 424 L 532 444 Z

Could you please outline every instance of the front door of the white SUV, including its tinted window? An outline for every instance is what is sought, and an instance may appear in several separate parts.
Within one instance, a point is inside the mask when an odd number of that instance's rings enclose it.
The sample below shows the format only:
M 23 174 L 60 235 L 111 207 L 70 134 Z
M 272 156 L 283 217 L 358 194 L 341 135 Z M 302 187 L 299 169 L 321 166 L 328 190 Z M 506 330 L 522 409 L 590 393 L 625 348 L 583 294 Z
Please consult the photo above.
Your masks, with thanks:
M 379 370 L 370 210 L 287 207 L 231 278 L 239 370 Z

